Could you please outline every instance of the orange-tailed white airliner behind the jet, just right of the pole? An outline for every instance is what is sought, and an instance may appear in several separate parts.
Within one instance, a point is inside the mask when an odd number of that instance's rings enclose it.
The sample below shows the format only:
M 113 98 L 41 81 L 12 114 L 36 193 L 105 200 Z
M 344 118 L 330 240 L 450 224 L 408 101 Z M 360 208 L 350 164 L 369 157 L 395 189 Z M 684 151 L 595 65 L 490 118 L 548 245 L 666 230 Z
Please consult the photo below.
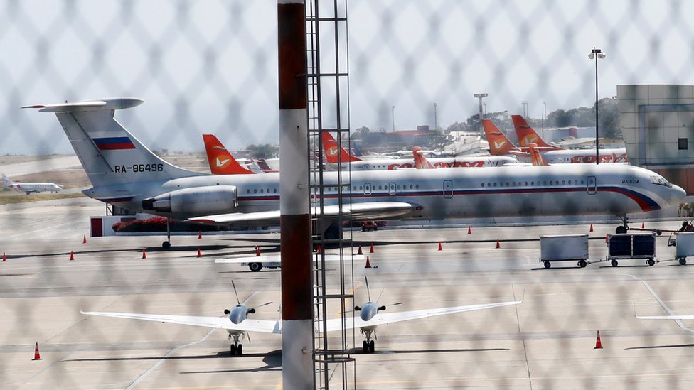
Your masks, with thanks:
M 326 161 L 336 164 L 342 163 L 342 169 L 350 170 L 395 170 L 400 168 L 415 168 L 415 161 L 410 158 L 370 158 L 362 160 L 348 153 L 343 147 L 338 146 L 337 141 L 326 132 L 323 134 L 323 148 Z M 421 150 L 421 148 L 420 148 Z M 341 156 L 338 160 L 338 154 Z M 438 157 L 429 158 L 429 162 L 436 168 L 472 168 L 503 166 L 518 163 L 518 160 L 509 156 L 476 156 L 476 157 Z

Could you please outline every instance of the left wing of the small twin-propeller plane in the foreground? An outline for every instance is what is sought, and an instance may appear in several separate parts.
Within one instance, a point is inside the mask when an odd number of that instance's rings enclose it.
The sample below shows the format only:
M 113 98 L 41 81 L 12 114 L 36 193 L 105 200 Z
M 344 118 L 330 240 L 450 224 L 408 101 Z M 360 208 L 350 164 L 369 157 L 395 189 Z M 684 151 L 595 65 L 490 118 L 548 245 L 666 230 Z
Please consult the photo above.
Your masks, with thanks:
M 103 311 L 83 311 L 84 315 L 98 315 L 101 317 L 129 318 L 131 320 L 154 321 L 156 323 L 170 323 L 181 325 L 193 325 L 213 327 L 216 329 L 242 330 L 245 332 L 280 333 L 279 321 L 252 320 L 247 318 L 240 324 L 232 323 L 228 317 L 201 317 L 196 315 L 166 315 L 166 314 L 139 314 L 139 313 L 110 313 Z

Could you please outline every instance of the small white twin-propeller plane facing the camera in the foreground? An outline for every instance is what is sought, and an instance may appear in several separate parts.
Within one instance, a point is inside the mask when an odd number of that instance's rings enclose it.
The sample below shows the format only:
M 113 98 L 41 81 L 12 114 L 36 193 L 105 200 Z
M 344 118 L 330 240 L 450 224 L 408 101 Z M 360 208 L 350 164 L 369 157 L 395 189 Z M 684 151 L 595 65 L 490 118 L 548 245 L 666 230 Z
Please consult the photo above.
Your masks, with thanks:
M 368 291 L 368 280 L 366 281 L 366 286 Z M 235 286 L 234 291 L 236 291 Z M 82 313 L 83 315 L 96 315 L 110 318 L 129 318 L 132 320 L 154 321 L 157 323 L 174 323 L 225 329 L 227 330 L 227 332 L 229 332 L 229 338 L 233 338 L 234 340 L 233 345 L 230 345 L 231 354 L 241 355 L 243 354 L 243 346 L 239 343 L 239 340 L 240 337 L 244 335 L 247 337 L 247 332 L 274 333 L 276 335 L 282 333 L 282 322 L 279 320 L 253 320 L 247 318 L 248 314 L 255 313 L 255 308 L 247 308 L 247 306 L 245 305 L 245 302 L 247 300 L 248 298 L 243 303 L 239 302 L 231 310 L 225 309 L 224 317 L 84 311 L 82 310 L 81 306 L 80 313 Z M 378 302 L 372 301 L 371 293 L 370 291 L 368 291 L 368 301 L 361 306 L 354 307 L 354 310 L 359 312 L 358 317 L 353 316 L 345 318 L 344 323 L 342 318 L 329 318 L 325 320 L 325 331 L 334 332 L 336 330 L 343 329 L 359 329 L 365 337 L 365 340 L 363 340 L 362 343 L 362 351 L 364 353 L 369 353 L 374 352 L 375 349 L 375 342 L 371 340 L 371 337 L 373 336 L 375 338 L 375 331 L 378 325 L 388 325 L 392 323 L 400 323 L 402 321 L 417 320 L 420 318 L 429 318 L 438 315 L 463 313 L 474 310 L 501 308 L 503 306 L 518 305 L 521 303 L 523 303 L 523 300 L 514 300 L 509 302 L 498 303 L 484 303 L 478 305 L 454 306 L 449 308 L 426 308 L 420 310 L 407 310 L 395 313 L 380 313 L 382 311 L 385 311 L 386 306 L 378 305 Z M 393 305 L 398 304 L 400 303 L 395 303 Z M 269 305 L 269 303 L 265 303 L 263 305 Z M 256 308 L 260 308 L 260 306 L 257 306 Z M 319 331 L 319 329 L 316 328 L 316 331 Z

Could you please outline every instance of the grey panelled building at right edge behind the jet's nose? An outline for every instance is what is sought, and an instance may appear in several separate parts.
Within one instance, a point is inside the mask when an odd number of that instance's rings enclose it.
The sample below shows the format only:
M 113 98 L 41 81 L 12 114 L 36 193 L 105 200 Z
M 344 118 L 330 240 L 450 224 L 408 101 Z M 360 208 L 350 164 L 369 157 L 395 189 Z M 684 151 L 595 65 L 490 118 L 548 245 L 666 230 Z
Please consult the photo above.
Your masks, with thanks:
M 617 85 L 617 99 L 631 165 L 694 194 L 694 85 Z

